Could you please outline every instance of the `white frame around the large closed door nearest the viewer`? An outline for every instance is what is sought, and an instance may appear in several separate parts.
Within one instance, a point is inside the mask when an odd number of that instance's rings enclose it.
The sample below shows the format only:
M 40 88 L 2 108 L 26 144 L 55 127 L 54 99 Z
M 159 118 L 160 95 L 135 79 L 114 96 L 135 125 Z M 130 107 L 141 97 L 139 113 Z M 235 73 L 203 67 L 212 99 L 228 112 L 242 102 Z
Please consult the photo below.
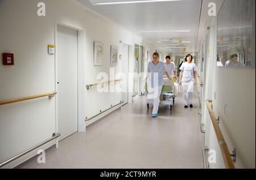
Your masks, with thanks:
M 77 33 L 77 130 L 84 132 L 85 127 L 85 68 L 84 68 L 84 48 L 86 33 L 85 29 L 74 27 L 73 25 L 66 24 L 60 20 L 55 19 L 54 25 L 54 43 L 55 43 L 55 92 L 58 92 L 57 88 L 57 26 L 63 26 L 65 28 L 76 30 Z M 58 94 L 55 96 L 55 133 L 59 132 L 59 114 L 58 114 Z M 59 138 L 56 139 L 56 148 L 58 147 Z

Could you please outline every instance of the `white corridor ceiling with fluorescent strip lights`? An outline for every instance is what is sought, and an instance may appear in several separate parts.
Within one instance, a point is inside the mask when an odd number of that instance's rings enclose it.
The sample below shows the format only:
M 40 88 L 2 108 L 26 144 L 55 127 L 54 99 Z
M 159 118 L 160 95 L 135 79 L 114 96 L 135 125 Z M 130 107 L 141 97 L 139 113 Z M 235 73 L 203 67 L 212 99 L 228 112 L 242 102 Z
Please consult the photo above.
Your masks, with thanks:
M 98 5 L 96 2 L 125 0 L 77 0 L 135 34 L 170 50 L 172 53 L 195 52 L 199 33 L 202 0 Z M 128 1 L 128 0 L 126 0 Z M 129 0 L 130 1 L 130 0 Z M 190 32 L 139 32 L 140 30 L 187 30 Z M 183 43 L 180 44 L 179 40 Z

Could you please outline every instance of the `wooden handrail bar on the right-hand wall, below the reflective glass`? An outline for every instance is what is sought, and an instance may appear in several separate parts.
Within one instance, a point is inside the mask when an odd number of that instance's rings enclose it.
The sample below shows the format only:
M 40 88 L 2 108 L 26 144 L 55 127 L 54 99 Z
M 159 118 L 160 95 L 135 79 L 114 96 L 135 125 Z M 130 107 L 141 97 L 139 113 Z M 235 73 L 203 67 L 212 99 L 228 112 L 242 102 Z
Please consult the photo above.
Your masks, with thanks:
M 228 145 L 225 142 L 225 139 L 224 139 L 224 137 L 221 133 L 221 130 L 220 130 L 220 126 L 218 126 L 218 123 L 217 123 L 216 118 L 214 116 L 213 110 L 210 107 L 210 100 L 206 101 L 206 105 L 207 105 L 207 109 L 208 109 L 209 114 L 210 114 L 210 119 L 212 119 L 212 124 L 213 124 L 214 131 L 215 131 L 217 139 L 218 139 L 218 143 L 220 144 L 221 153 L 222 153 L 222 157 L 223 157 L 224 162 L 225 162 L 225 166 L 226 166 L 227 169 L 235 169 L 235 166 L 233 164 L 232 158 L 231 158 L 230 153 L 229 153 Z

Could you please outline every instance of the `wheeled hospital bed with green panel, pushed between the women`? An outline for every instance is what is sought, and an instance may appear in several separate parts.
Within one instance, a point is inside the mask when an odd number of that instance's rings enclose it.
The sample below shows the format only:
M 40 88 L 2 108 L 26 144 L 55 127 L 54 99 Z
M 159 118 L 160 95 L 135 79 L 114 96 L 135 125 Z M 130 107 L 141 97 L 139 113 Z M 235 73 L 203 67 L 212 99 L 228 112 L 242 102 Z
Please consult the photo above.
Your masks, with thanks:
M 148 87 L 146 85 L 146 95 L 148 94 Z M 160 103 L 159 105 L 168 105 L 170 106 L 170 110 L 172 110 L 175 102 L 175 97 L 179 91 L 179 85 L 177 84 L 177 79 L 172 78 L 172 81 L 168 78 L 164 78 L 164 85 L 160 94 Z M 152 104 L 152 100 L 147 100 L 147 109 L 149 109 L 150 104 Z

